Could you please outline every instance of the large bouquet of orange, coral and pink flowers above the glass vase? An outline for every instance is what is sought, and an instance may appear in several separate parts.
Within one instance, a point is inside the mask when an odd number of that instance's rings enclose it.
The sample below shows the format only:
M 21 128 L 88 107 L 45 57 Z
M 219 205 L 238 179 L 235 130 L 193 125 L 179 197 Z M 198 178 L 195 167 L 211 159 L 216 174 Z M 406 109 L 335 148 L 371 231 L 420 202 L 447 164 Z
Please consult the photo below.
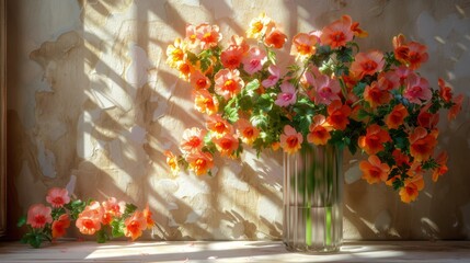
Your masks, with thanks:
M 417 72 L 428 59 L 425 45 L 399 34 L 392 50 L 362 52 L 356 38 L 368 33 L 343 15 L 296 34 L 295 61 L 282 69 L 276 56 L 287 35 L 264 13 L 228 47 L 218 25 L 190 24 L 185 33 L 168 46 L 167 64 L 192 85 L 206 122 L 183 133 L 181 153 L 165 152 L 174 174 L 210 175 L 216 153 L 238 158 L 244 147 L 293 155 L 306 144 L 330 144 L 367 155 L 363 179 L 392 186 L 410 203 L 427 173 L 437 181 L 447 172 L 447 153 L 435 152 L 439 112 L 455 118 L 463 95 L 440 78 L 433 89 Z

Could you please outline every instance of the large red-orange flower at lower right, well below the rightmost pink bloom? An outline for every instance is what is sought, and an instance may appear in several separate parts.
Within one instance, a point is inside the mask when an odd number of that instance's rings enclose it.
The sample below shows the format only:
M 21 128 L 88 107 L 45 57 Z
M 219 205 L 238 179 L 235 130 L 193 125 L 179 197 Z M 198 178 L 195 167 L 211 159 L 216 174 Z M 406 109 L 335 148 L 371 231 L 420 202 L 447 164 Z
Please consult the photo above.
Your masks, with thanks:
M 437 145 L 437 135 L 427 134 L 423 127 L 416 127 L 410 135 L 410 155 L 415 161 L 427 161 L 434 152 L 434 147 Z

